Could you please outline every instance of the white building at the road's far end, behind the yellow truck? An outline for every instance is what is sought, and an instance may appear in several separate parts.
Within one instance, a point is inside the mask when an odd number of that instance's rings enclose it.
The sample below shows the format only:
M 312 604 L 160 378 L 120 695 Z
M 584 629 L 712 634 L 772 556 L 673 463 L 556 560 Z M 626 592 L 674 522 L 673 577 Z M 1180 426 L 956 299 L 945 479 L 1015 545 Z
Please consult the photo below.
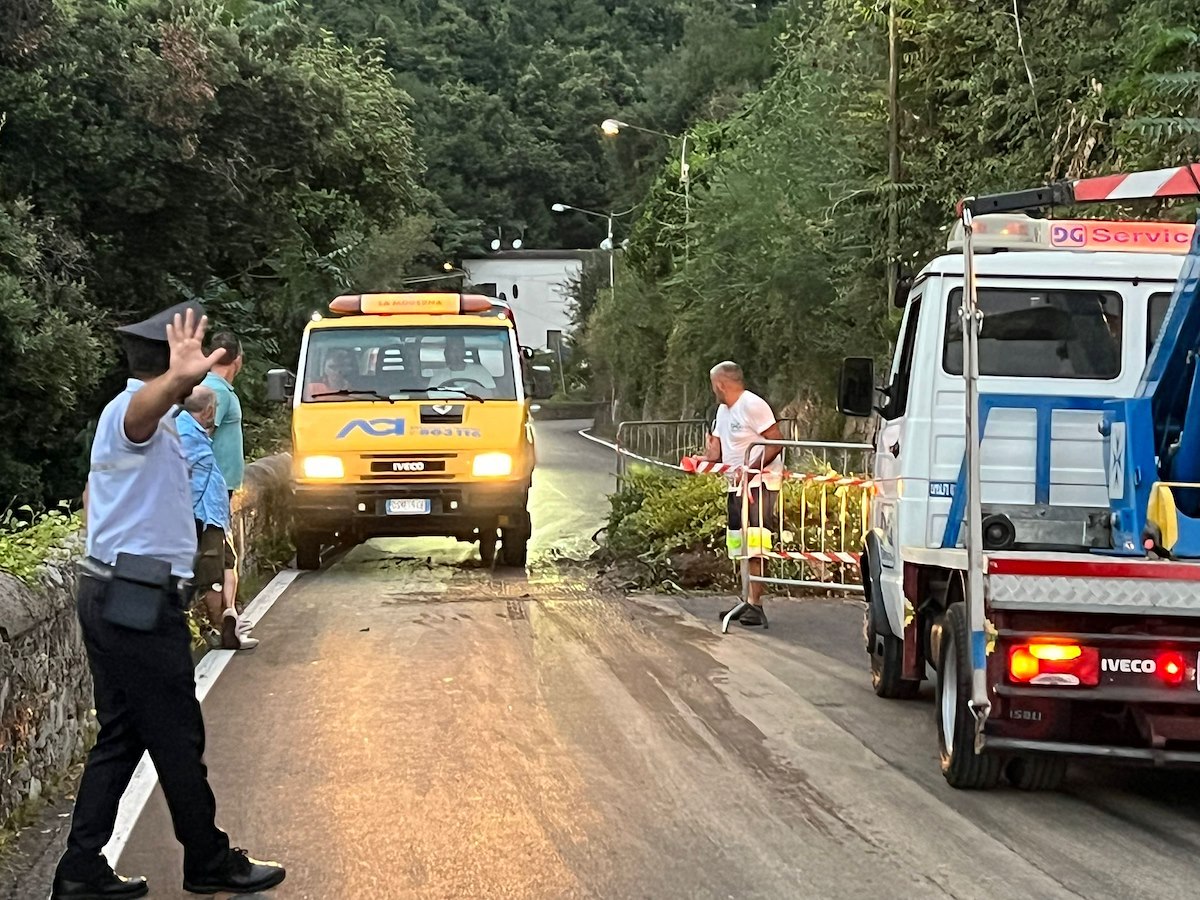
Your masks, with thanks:
M 463 259 L 468 281 L 482 293 L 512 306 L 521 342 L 535 349 L 548 346 L 547 332 L 571 329 L 571 283 L 583 271 L 589 250 L 508 250 L 479 259 Z

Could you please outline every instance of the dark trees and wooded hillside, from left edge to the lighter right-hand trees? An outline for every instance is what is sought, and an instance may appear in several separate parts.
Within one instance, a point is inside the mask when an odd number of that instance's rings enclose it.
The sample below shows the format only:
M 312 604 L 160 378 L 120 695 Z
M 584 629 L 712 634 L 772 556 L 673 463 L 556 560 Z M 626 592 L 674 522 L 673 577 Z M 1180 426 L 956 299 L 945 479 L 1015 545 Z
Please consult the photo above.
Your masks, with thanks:
M 562 200 L 640 196 L 769 65 L 770 2 L 18 0 L 0 8 L 0 497 L 78 497 L 120 384 L 110 328 L 184 298 L 263 373 L 349 288 L 496 236 L 595 246 Z M 456 282 L 444 282 L 444 286 Z

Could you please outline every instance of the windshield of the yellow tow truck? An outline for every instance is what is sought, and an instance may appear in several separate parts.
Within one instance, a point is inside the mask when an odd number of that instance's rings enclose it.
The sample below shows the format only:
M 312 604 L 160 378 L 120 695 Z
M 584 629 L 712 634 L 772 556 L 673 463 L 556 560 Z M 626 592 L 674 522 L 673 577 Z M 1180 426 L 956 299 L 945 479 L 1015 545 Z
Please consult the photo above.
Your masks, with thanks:
M 516 400 L 508 328 L 331 328 L 310 332 L 305 403 Z

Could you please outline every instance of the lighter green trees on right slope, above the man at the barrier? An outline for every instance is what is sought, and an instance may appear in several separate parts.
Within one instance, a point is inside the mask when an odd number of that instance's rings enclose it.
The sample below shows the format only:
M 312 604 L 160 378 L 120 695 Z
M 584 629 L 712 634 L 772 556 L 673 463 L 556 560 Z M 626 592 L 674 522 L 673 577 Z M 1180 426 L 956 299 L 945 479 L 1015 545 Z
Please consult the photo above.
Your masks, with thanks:
M 968 192 L 1200 160 L 1195 4 L 898 0 L 893 182 L 887 8 L 776 11 L 770 77 L 691 127 L 686 196 L 678 163 L 661 170 L 624 278 L 584 319 L 598 395 L 619 416 L 698 412 L 708 366 L 733 358 L 778 404 L 838 427 L 838 360 L 886 353 L 895 325 L 892 204 L 898 254 L 917 268 Z

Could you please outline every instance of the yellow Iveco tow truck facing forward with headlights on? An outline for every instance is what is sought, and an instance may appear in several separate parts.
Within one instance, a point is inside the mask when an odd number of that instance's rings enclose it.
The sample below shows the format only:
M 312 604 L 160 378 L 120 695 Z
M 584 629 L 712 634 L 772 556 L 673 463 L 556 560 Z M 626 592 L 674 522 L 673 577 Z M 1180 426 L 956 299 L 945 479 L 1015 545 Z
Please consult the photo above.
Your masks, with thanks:
M 511 310 L 445 293 L 329 308 L 305 329 L 299 378 L 268 373 L 268 395 L 292 404 L 296 565 L 318 569 L 334 542 L 444 535 L 478 541 L 485 565 L 523 566 L 529 400 L 546 391 L 526 377 Z

